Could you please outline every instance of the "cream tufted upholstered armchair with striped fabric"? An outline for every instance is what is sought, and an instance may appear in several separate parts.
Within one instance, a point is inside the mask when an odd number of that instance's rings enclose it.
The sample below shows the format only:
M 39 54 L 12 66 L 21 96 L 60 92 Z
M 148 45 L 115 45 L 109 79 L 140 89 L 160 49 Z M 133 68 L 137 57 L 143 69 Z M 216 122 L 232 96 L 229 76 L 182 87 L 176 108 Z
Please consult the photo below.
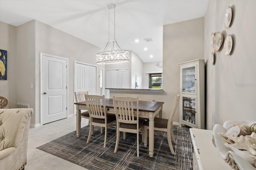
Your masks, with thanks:
M 0 170 L 22 170 L 27 163 L 33 109 L 0 109 Z

